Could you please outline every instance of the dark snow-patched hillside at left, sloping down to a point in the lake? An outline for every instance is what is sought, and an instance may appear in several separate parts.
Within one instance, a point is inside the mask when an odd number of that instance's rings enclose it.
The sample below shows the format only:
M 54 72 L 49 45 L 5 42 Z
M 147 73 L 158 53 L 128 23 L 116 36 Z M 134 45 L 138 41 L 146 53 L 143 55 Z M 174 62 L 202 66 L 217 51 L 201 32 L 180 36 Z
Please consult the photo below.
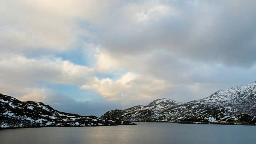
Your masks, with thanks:
M 42 102 L 20 101 L 0 94 L 0 128 L 38 126 L 113 126 L 133 124 L 121 120 L 102 120 L 59 112 Z

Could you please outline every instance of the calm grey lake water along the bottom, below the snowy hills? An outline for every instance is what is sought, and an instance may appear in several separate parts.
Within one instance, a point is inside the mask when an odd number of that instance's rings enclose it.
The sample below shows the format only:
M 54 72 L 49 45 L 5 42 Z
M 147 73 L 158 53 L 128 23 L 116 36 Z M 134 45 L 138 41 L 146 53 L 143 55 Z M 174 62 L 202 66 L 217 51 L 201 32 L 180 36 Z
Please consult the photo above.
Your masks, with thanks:
M 256 126 L 136 123 L 0 130 L 1 144 L 255 144 Z

